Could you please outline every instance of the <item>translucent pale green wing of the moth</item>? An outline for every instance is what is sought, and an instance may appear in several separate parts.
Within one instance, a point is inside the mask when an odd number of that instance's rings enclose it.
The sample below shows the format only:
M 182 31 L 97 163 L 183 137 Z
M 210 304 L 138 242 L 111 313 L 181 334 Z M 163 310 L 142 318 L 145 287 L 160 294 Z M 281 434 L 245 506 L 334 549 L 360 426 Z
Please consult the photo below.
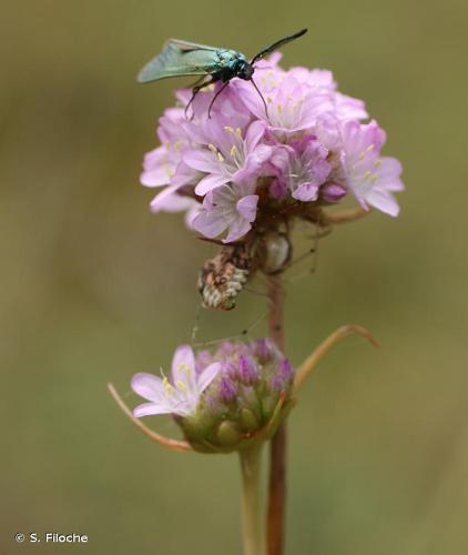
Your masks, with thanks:
M 182 75 L 205 75 L 216 68 L 215 48 L 170 39 L 163 50 L 140 71 L 141 83 Z

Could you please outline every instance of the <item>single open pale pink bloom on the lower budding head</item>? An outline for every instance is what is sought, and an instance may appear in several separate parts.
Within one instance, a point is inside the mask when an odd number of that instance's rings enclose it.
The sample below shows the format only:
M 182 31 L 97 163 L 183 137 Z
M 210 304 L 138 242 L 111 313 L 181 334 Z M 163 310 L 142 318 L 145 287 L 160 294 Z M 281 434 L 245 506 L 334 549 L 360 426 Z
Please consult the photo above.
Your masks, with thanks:
M 132 379 L 132 390 L 149 402 L 139 405 L 133 414 L 140 418 L 151 414 L 194 414 L 201 394 L 221 370 L 214 362 L 201 373 L 195 370 L 195 355 L 189 345 L 180 346 L 172 360 L 171 380 L 153 374 L 139 373 Z

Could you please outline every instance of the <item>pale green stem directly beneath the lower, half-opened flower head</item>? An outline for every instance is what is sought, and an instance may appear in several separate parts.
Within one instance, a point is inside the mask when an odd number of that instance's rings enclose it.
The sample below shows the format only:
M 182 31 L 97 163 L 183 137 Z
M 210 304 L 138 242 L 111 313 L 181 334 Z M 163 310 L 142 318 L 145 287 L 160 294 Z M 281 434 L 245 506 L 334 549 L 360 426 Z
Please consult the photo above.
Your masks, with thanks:
M 262 503 L 262 443 L 240 451 L 244 555 L 265 555 Z

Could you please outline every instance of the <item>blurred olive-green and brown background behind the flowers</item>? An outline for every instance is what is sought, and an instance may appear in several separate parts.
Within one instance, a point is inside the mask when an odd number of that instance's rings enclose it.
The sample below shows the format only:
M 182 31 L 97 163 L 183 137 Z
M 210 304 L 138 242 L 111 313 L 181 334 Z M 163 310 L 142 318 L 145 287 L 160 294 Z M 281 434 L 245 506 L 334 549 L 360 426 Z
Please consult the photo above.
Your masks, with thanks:
M 287 553 L 468 553 L 467 20 L 461 0 L 2 2 L 2 554 L 62 548 L 16 532 L 88 534 L 71 549 L 96 555 L 240 553 L 236 457 L 159 448 L 105 390 L 133 405 L 132 373 L 190 339 L 210 251 L 180 215 L 150 214 L 139 185 L 184 80 L 134 77 L 171 36 L 252 53 L 304 26 L 285 65 L 329 68 L 365 99 L 408 189 L 400 218 L 337 228 L 317 273 L 287 287 L 294 363 L 347 322 L 384 344 L 348 339 L 304 389 Z M 264 310 L 244 293 L 233 313 L 204 311 L 199 339 Z

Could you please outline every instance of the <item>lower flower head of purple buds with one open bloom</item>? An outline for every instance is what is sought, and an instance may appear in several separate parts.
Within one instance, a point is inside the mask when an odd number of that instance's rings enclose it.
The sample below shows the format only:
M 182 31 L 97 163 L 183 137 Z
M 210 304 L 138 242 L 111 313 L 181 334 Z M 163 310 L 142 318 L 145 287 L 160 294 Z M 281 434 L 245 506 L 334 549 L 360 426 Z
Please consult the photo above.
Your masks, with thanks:
M 292 406 L 293 377 L 289 362 L 267 339 L 223 342 L 196 355 L 182 345 L 170 377 L 133 376 L 133 391 L 147 400 L 133 413 L 172 414 L 195 450 L 230 452 L 276 431 Z

